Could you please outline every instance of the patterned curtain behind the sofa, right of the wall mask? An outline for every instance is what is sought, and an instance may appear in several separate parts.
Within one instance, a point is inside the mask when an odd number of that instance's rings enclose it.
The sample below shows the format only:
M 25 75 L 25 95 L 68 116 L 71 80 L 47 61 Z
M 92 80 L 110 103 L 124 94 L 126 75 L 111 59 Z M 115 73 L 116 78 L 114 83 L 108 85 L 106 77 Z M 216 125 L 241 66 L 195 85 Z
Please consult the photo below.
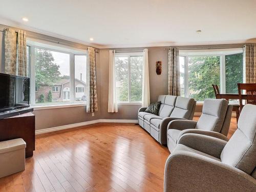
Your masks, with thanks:
M 179 48 L 168 50 L 168 95 L 180 95 Z

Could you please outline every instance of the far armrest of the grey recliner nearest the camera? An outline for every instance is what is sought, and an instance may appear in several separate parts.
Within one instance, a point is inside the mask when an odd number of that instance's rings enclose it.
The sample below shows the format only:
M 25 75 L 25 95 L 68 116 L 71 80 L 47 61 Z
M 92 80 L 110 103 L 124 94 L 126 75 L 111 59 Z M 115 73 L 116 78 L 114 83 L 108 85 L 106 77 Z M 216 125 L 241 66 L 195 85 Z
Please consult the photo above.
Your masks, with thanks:
M 182 135 L 177 143 L 220 159 L 221 152 L 227 141 L 207 135 L 187 133 Z

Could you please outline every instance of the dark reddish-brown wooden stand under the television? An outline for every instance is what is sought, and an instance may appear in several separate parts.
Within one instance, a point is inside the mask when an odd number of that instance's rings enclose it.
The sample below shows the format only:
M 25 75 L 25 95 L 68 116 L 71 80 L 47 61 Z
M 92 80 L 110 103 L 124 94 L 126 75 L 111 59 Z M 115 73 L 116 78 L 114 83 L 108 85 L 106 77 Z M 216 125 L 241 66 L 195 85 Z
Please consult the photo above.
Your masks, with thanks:
M 35 151 L 35 115 L 25 113 L 0 120 L 0 141 L 22 138 L 26 142 L 26 158 Z

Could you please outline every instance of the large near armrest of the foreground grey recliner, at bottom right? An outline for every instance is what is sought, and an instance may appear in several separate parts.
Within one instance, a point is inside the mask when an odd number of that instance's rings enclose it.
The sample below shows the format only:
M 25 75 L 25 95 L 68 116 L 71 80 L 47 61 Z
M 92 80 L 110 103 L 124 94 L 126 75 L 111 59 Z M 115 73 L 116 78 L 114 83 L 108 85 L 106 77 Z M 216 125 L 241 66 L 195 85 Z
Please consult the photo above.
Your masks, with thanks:
M 256 180 L 220 161 L 176 151 L 165 164 L 164 191 L 256 191 Z

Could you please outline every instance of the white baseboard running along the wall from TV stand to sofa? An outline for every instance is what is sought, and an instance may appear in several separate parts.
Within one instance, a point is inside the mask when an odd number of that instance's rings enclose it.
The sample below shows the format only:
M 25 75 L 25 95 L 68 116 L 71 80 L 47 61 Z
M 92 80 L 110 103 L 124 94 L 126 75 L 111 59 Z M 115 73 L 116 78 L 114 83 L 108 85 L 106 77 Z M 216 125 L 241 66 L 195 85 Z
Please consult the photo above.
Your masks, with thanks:
M 84 126 L 84 125 L 89 125 L 89 124 L 95 124 L 95 123 L 138 123 L 138 120 L 134 119 L 97 119 L 97 120 L 92 120 L 92 121 L 84 121 L 80 123 L 73 123 L 73 124 L 68 124 L 68 125 L 62 125 L 62 126 L 55 126 L 47 129 L 42 129 L 42 130 L 36 130 L 35 134 L 43 134 L 43 133 L 50 133 L 50 132 L 55 132 L 59 130 L 67 130 L 71 129 L 74 127 L 78 126 Z

